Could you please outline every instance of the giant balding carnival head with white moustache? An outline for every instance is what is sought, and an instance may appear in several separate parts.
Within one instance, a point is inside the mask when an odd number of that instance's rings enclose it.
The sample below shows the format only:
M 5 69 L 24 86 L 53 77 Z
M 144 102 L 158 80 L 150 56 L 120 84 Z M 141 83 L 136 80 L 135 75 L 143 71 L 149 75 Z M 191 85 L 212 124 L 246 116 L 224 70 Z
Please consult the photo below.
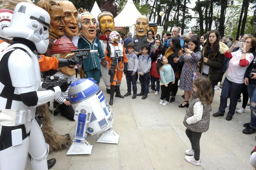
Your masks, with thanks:
M 135 29 L 138 38 L 142 38 L 146 35 L 147 30 L 149 29 L 149 21 L 145 15 L 142 15 L 137 18 Z

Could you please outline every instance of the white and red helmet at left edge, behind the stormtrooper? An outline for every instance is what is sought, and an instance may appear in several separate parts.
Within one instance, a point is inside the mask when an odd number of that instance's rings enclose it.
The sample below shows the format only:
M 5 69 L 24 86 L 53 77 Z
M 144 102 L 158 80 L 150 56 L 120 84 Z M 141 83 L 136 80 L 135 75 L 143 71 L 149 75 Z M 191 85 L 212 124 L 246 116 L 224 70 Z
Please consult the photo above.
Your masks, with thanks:
M 6 37 L 3 34 L 3 29 L 10 26 L 13 17 L 13 11 L 9 9 L 0 9 L 0 37 L 12 40 L 11 37 Z

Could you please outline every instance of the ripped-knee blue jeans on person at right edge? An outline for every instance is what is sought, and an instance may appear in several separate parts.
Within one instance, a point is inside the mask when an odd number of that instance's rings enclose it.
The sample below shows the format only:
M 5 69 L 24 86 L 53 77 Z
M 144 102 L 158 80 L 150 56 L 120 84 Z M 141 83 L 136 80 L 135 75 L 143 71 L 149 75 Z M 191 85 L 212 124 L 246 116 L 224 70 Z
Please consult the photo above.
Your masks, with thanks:
M 251 109 L 251 122 L 250 126 L 256 128 L 256 84 L 249 83 L 248 87 L 248 95 L 250 98 L 250 109 Z

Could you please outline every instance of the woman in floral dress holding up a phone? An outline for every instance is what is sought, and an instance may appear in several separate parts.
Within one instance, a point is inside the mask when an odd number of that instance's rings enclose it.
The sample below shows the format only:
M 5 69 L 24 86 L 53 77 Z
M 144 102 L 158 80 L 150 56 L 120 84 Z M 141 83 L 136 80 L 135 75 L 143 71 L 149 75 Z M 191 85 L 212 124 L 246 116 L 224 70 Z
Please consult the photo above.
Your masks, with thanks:
M 183 53 L 185 52 L 185 54 Z M 188 107 L 188 99 L 192 100 L 193 93 L 193 72 L 189 66 L 191 65 L 194 71 L 197 70 L 197 63 L 201 58 L 200 43 L 197 38 L 191 38 L 188 42 L 188 48 L 180 51 L 179 61 L 184 62 L 180 75 L 179 88 L 184 90 L 185 101 L 179 107 Z

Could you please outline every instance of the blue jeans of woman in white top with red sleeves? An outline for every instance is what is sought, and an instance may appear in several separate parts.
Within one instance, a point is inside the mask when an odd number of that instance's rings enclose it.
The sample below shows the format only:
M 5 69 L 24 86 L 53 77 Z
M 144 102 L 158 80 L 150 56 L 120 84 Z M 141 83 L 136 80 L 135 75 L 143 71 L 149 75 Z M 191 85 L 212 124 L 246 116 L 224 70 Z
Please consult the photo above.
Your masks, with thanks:
M 227 99 L 228 96 L 230 96 L 228 115 L 233 116 L 235 114 L 238 96 L 240 95 L 243 86 L 244 83 L 234 83 L 225 78 L 220 95 L 219 113 L 224 115 L 227 107 Z

